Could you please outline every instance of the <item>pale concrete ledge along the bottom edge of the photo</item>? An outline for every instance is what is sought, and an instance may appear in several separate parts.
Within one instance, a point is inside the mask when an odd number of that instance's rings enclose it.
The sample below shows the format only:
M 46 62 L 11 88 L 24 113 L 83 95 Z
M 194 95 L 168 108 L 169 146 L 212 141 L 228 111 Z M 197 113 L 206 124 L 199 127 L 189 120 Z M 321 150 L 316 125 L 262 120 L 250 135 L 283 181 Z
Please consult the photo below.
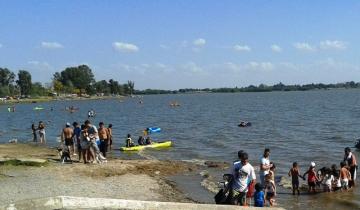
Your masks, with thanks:
M 123 210 L 246 210 L 264 209 L 256 207 L 240 207 L 214 204 L 196 203 L 175 203 L 157 201 L 137 201 L 109 198 L 87 198 L 57 196 L 40 198 L 33 200 L 20 201 L 0 207 L 1 210 L 21 210 L 21 209 L 123 209 Z M 272 210 L 282 210 L 282 208 L 271 208 Z

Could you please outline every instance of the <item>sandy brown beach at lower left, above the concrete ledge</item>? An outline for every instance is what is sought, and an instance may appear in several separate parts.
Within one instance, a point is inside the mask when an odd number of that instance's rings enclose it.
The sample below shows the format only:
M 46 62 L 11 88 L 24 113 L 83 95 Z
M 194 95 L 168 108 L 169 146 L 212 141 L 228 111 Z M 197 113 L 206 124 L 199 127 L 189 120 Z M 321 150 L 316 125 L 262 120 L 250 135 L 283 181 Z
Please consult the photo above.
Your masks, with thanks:
M 190 163 L 110 159 L 108 163 L 60 164 L 56 149 L 29 144 L 0 145 L 0 203 L 50 196 L 194 202 L 167 176 L 196 170 Z M 4 158 L 45 159 L 42 166 L 14 165 Z

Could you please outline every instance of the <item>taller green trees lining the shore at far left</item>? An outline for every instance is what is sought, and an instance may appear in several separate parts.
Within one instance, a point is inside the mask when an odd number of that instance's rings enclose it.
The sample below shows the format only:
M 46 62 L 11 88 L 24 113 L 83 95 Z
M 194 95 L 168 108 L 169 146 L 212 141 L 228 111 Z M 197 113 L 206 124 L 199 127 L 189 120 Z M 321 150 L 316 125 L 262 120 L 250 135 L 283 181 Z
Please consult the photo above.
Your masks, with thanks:
M 77 95 L 131 95 L 135 92 L 135 83 L 128 81 L 120 84 L 118 81 L 96 81 L 92 70 L 87 65 L 68 67 L 53 75 L 51 85 L 43 86 L 32 82 L 31 74 L 19 70 L 16 75 L 7 68 L 0 68 L 0 97 L 37 97 L 61 94 Z

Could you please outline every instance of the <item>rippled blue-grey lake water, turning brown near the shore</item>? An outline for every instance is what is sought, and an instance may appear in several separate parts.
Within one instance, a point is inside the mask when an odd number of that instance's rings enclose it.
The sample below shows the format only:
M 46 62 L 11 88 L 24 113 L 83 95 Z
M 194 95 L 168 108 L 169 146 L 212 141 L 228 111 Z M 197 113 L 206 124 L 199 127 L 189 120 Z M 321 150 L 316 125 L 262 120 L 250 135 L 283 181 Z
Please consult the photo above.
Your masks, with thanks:
M 138 99 L 98 101 L 58 101 L 19 104 L 15 113 L 0 106 L 0 142 L 16 138 L 31 139 L 31 123 L 46 123 L 48 143 L 56 146 L 66 122 L 86 119 L 87 111 L 97 113 L 94 124 L 103 121 L 114 125 L 115 145 L 120 146 L 127 133 L 137 135 L 145 127 L 161 127 L 154 139 L 173 139 L 174 147 L 161 151 L 144 151 L 143 155 L 158 159 L 216 160 L 236 159 L 239 149 L 246 150 L 258 171 L 259 158 L 265 147 L 271 149 L 271 161 L 277 175 L 286 175 L 293 161 L 304 172 L 310 161 L 318 166 L 339 164 L 343 148 L 353 146 L 360 136 L 360 90 L 308 92 L 187 94 L 144 96 Z M 170 107 L 178 101 L 180 107 Z M 66 106 L 79 107 L 75 113 Z M 45 110 L 33 111 L 35 106 Z M 50 111 L 50 108 L 54 111 Z M 239 128 L 240 120 L 252 127 Z M 129 157 L 114 151 L 115 155 Z M 360 159 L 359 152 L 355 152 Z M 222 171 L 215 172 L 220 176 Z M 358 183 L 359 185 L 359 183 Z M 197 186 L 197 185 L 196 185 Z M 200 187 L 200 186 L 199 186 Z M 318 194 L 293 197 L 283 190 L 277 201 L 281 206 L 296 208 L 356 209 L 360 208 L 359 188 L 348 193 Z M 212 198 L 210 198 L 211 201 Z

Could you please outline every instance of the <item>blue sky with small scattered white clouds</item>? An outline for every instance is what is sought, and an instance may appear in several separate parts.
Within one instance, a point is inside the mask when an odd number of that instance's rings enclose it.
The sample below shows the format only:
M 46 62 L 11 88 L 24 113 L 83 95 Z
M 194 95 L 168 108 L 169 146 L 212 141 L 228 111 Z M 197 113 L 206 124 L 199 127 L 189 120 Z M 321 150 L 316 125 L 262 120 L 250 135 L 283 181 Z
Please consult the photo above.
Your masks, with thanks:
M 135 89 L 360 81 L 360 1 L 0 0 L 0 67 Z

